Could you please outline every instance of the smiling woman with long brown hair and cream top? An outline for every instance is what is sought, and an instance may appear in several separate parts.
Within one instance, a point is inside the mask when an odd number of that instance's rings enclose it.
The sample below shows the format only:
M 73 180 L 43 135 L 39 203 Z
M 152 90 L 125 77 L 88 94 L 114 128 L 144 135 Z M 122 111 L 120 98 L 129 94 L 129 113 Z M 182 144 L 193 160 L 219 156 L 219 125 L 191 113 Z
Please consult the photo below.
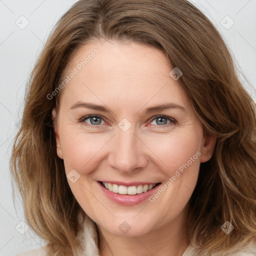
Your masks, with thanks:
M 24 255 L 255 255 L 255 127 L 191 3 L 76 2 L 32 71 L 13 147 L 47 241 Z

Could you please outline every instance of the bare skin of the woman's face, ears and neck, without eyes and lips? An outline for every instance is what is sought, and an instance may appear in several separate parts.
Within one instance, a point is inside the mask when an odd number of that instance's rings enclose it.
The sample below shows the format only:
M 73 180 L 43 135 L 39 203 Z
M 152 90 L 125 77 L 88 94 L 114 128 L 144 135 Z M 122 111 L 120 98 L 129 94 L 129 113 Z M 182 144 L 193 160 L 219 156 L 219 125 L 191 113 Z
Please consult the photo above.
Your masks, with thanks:
M 200 162 L 212 156 L 215 137 L 204 135 L 179 80 L 169 75 L 173 67 L 159 49 L 137 42 L 91 41 L 77 49 L 65 73 L 94 48 L 99 52 L 62 89 L 57 113 L 52 110 L 57 154 L 66 174 L 74 169 L 80 175 L 74 183 L 68 179 L 72 193 L 98 227 L 100 255 L 182 255 L 188 245 L 184 226 L 188 201 Z M 111 112 L 70 109 L 78 101 L 100 104 Z M 163 103 L 185 110 L 144 111 Z M 104 120 L 79 121 L 91 114 Z M 157 115 L 170 119 L 161 125 Z M 118 127 L 123 118 L 131 124 L 127 131 Z M 108 199 L 97 183 L 164 184 L 197 151 L 200 156 L 154 202 L 120 205 Z M 123 221 L 130 226 L 126 233 L 118 228 Z

